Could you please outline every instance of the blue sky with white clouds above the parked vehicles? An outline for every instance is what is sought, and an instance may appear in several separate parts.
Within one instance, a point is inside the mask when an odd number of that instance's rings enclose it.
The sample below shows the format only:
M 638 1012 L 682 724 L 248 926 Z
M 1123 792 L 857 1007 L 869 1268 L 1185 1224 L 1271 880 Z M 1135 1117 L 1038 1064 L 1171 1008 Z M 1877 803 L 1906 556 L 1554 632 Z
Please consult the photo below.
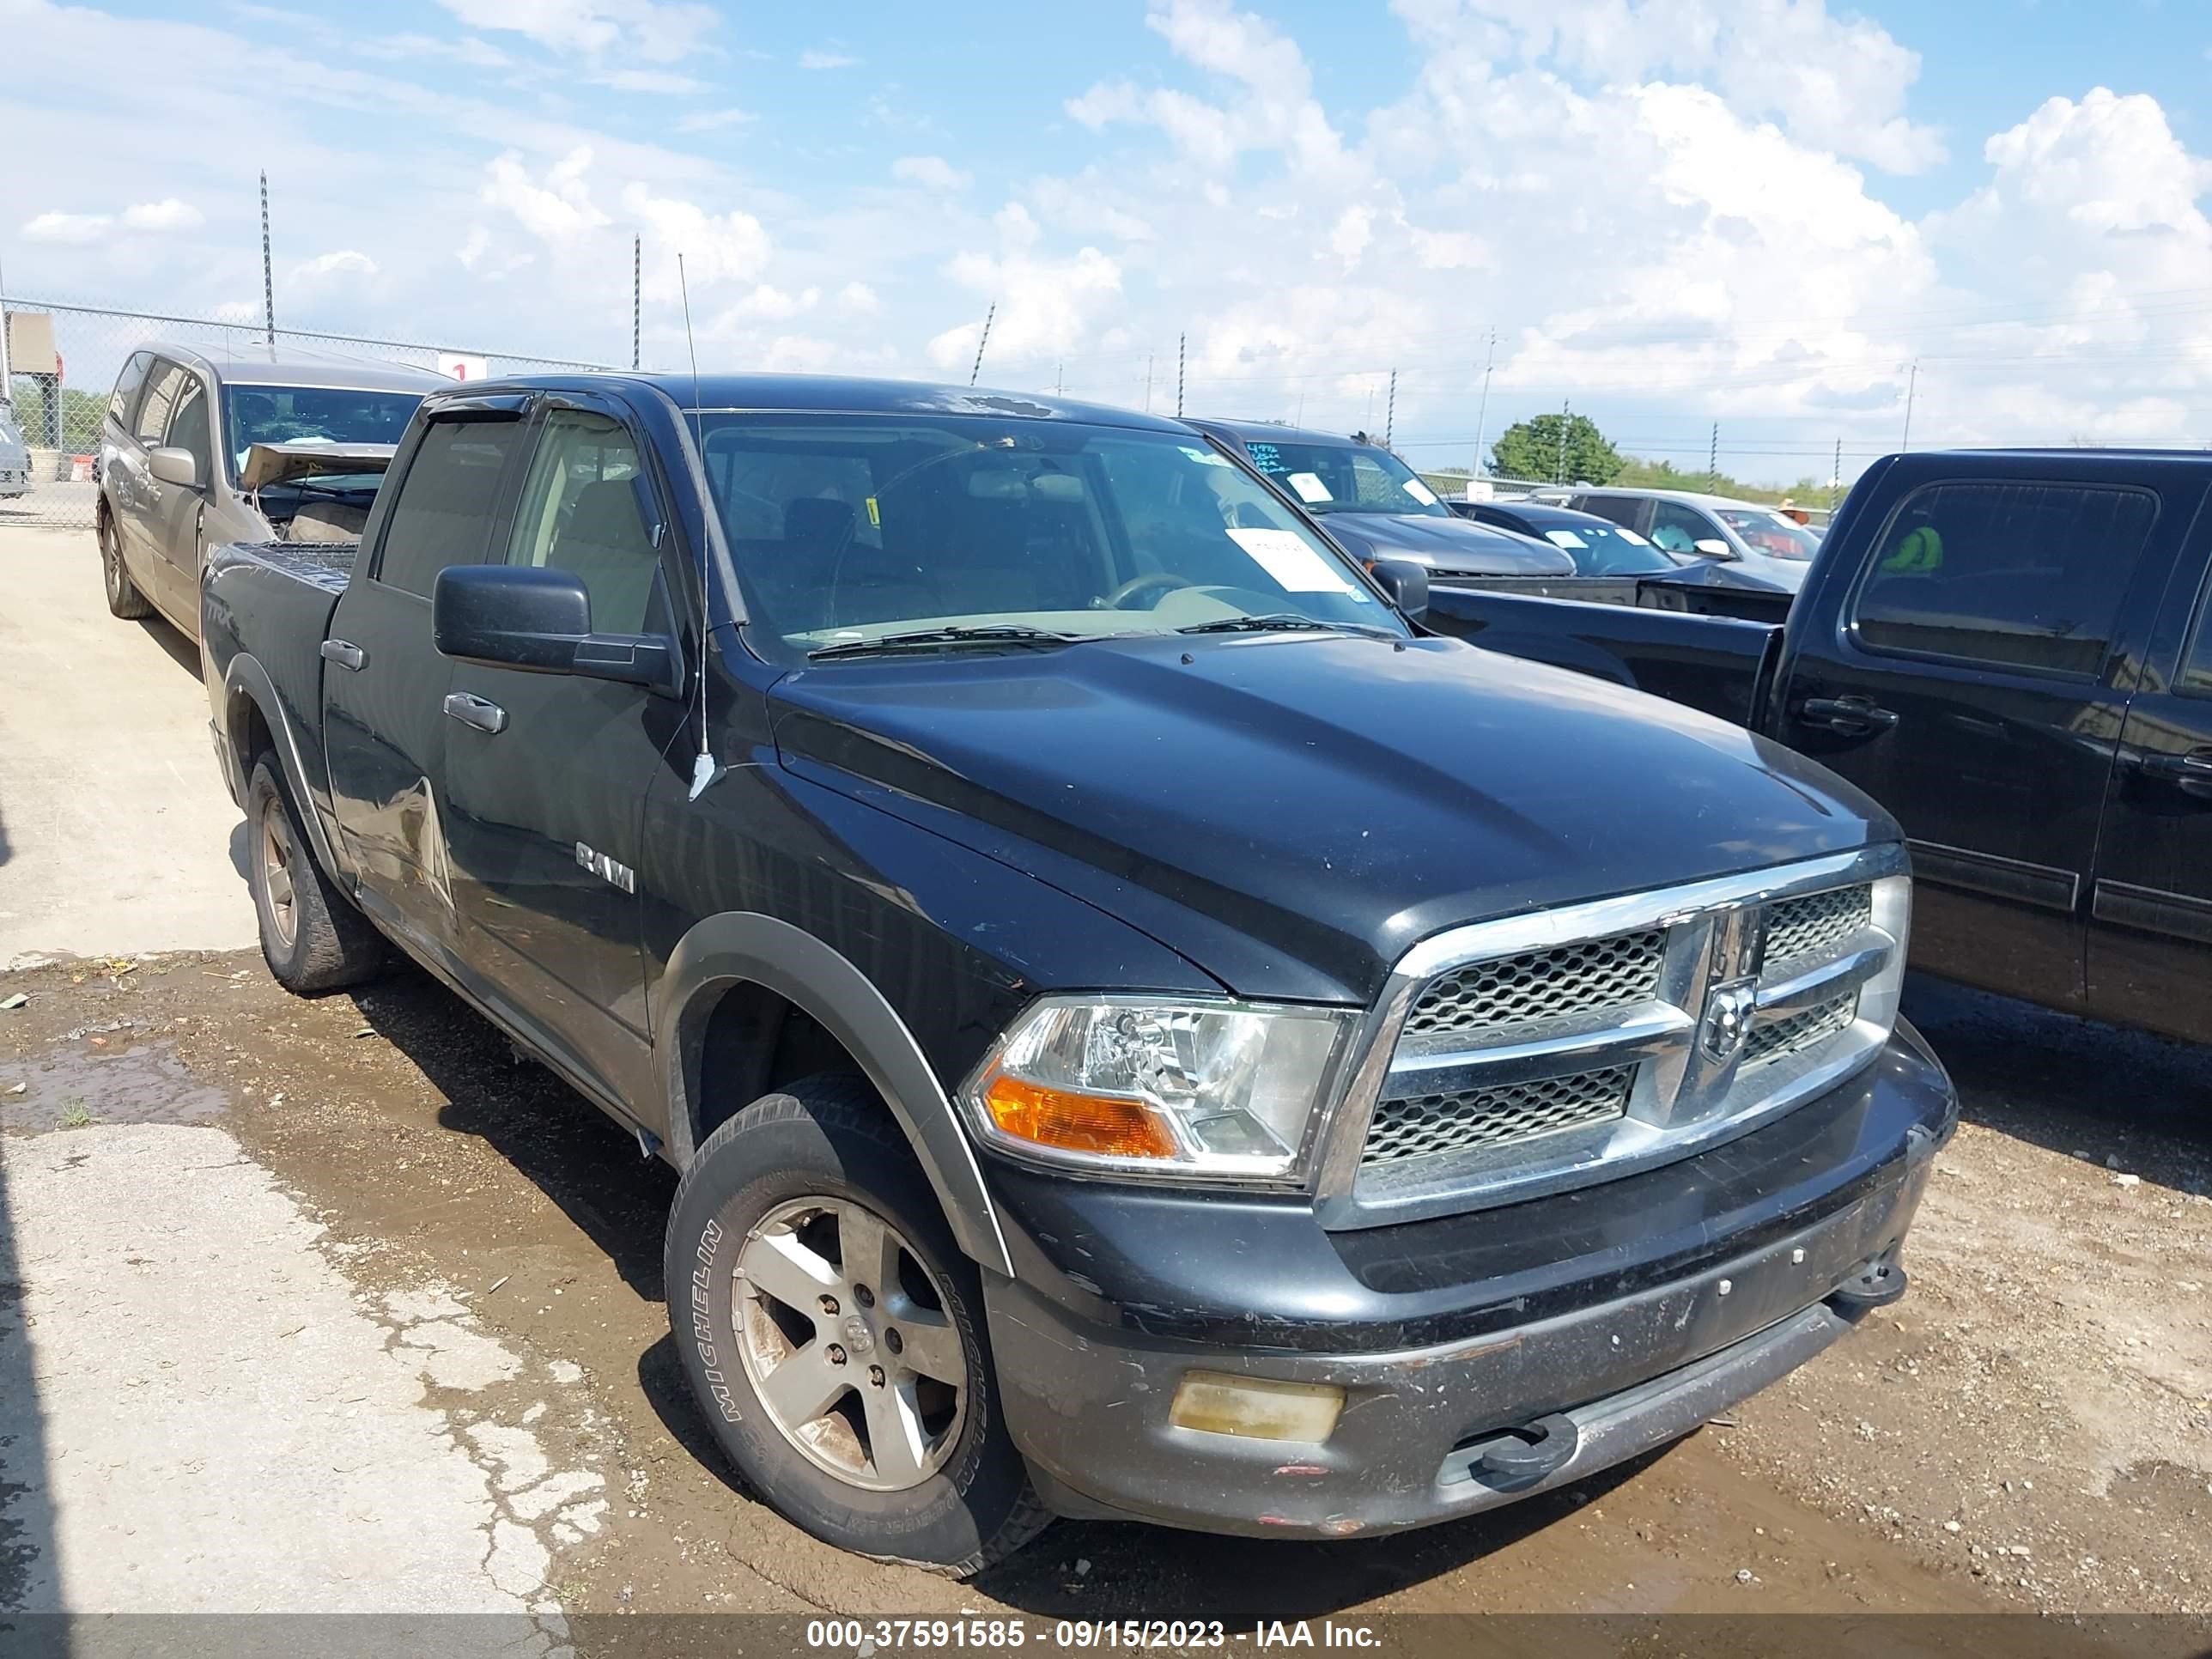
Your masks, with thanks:
M 2212 13 L 2150 0 L 0 0 L 11 296 L 1754 478 L 2212 445 Z M 374 18 L 363 22 L 358 18 Z M 117 64 L 148 73 L 124 86 Z M 88 122 L 97 108 L 111 119 Z M 38 155 L 38 146 L 24 148 Z M 1489 403 L 1478 363 L 1498 330 Z M 115 338 L 75 354 L 97 378 Z M 73 369 L 75 378 L 75 369 Z

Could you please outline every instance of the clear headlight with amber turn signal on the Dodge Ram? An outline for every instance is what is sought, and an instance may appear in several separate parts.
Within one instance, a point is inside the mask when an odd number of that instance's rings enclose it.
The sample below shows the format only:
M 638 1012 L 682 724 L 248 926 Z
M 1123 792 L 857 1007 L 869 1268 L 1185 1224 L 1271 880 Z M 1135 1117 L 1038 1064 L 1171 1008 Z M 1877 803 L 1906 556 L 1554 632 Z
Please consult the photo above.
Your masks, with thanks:
M 962 1091 L 975 1133 L 1097 1172 L 1294 1181 L 1356 1015 L 1060 995 Z

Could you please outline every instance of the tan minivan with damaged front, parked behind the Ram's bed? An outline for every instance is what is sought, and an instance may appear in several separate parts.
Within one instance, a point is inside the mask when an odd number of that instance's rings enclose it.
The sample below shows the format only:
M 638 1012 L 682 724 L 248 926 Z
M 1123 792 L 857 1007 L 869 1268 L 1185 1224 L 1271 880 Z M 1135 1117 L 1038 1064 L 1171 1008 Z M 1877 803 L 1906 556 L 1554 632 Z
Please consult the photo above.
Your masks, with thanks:
M 133 352 L 100 427 L 93 522 L 108 611 L 159 611 L 197 639 L 210 546 L 358 538 L 407 418 L 447 385 L 321 352 Z

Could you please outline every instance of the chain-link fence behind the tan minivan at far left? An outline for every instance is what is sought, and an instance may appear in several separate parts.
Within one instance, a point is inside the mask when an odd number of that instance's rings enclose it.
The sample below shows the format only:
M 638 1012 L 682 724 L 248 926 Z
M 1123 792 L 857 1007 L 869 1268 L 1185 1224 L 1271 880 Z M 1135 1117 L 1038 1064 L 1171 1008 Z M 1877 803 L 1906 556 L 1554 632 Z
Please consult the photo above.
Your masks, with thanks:
M 347 358 L 407 363 L 442 374 L 460 369 L 469 378 L 611 367 L 319 330 L 279 327 L 270 336 L 259 321 L 117 312 L 15 296 L 0 301 L 0 310 L 7 314 L 11 347 L 7 387 L 11 414 L 31 449 L 31 487 L 22 495 L 0 495 L 0 524 L 91 529 L 100 491 L 93 482 L 93 460 L 100 453 L 100 422 L 106 418 L 115 376 L 133 352 L 164 341 L 217 358 L 274 349 L 279 358 L 312 356 L 332 367 L 341 367 Z M 7 465 L 11 462 L 0 458 L 0 467 Z

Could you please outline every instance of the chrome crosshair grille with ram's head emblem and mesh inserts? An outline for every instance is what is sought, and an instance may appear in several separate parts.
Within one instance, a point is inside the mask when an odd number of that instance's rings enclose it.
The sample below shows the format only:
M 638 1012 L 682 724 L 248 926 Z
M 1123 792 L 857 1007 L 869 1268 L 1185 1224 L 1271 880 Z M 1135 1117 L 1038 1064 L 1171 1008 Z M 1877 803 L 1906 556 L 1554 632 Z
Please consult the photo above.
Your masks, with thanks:
M 1398 964 L 1325 1217 L 1374 1225 L 1626 1175 L 1874 1057 L 1898 847 L 1455 929 Z

